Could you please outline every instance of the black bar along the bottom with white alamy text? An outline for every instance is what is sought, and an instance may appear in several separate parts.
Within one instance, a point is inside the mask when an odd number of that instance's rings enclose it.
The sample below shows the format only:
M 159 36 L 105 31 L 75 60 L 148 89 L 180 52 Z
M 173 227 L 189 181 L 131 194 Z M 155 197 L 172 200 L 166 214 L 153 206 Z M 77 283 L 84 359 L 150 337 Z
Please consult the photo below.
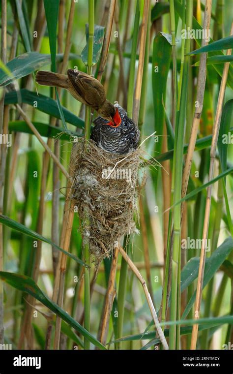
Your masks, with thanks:
M 17 366 L 19 365 L 19 366 Z M 28 366 L 24 366 L 28 365 Z M 34 365 L 34 366 L 31 366 Z M 36 369 L 37 367 L 37 369 Z M 93 369 L 111 372 L 127 369 L 129 373 L 157 370 L 174 373 L 233 374 L 233 351 L 228 350 L 0 350 L 0 374 L 47 373 L 69 374 Z M 172 372 L 173 371 L 173 372 Z M 162 372 L 162 374 L 163 374 Z M 157 372 L 158 373 L 158 372 Z

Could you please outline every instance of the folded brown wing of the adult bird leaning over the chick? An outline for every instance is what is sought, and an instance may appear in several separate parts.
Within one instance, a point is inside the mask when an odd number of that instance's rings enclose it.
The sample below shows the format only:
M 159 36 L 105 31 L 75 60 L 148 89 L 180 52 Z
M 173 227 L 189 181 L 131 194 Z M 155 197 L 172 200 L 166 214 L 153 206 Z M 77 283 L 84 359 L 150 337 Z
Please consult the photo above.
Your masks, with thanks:
M 73 69 L 68 69 L 67 75 L 74 89 L 87 105 L 98 110 L 106 101 L 104 88 L 97 79 L 82 71 Z

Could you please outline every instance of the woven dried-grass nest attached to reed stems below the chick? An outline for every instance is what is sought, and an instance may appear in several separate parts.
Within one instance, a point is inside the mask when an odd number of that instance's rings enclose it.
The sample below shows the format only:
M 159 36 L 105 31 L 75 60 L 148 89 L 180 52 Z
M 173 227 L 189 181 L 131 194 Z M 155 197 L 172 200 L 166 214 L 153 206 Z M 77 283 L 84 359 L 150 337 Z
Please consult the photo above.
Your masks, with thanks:
M 112 254 L 119 238 L 135 231 L 138 168 L 142 151 L 108 153 L 80 139 L 71 156 L 72 199 L 83 220 L 84 241 L 99 262 Z

